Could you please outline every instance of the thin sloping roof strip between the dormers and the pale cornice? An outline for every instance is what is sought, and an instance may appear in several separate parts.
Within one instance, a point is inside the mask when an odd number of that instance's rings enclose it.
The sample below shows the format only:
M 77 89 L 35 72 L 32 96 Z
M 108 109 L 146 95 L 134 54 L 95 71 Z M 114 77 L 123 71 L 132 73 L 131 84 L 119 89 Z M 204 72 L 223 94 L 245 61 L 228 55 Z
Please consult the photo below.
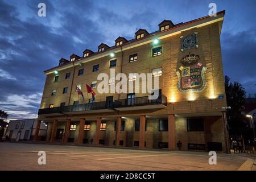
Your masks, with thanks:
M 225 15 L 225 10 L 218 12 L 217 15 L 218 15 L 218 14 L 222 14 L 222 13 Z M 155 36 L 155 35 L 161 34 L 161 33 L 166 32 L 166 31 L 172 31 L 172 30 L 174 30 L 175 28 L 179 28 L 179 27 L 182 27 L 182 26 L 185 26 L 185 25 L 188 25 L 188 24 L 197 22 L 197 21 L 199 21 L 199 20 L 203 20 L 203 19 L 205 19 L 205 18 L 210 18 L 210 16 L 207 15 L 207 16 L 203 16 L 203 17 L 201 17 L 201 18 L 197 18 L 197 19 L 188 21 L 188 22 L 184 22 L 184 23 L 181 22 L 181 23 L 178 23 L 178 24 L 175 24 L 174 27 L 169 28 L 168 30 L 164 30 L 164 31 L 159 31 L 159 30 L 157 30 L 157 31 L 151 32 L 151 33 L 148 34 L 147 36 L 144 36 L 144 38 L 128 40 L 128 42 L 122 44 L 122 46 L 125 46 L 125 45 L 130 44 L 130 43 L 134 43 L 134 42 L 137 42 L 137 41 L 141 41 L 141 40 L 143 40 L 143 39 L 145 39 L 145 38 L 148 38 L 148 37 L 150 37 L 150 36 Z M 143 29 L 141 29 L 141 30 L 143 30 Z M 139 30 L 138 30 L 138 31 L 139 31 Z M 137 31 L 137 32 L 138 32 L 138 31 Z M 102 43 L 101 43 L 101 44 L 102 44 Z M 106 45 L 106 46 L 108 46 L 108 45 Z M 111 49 L 114 49 L 114 48 L 116 48 L 116 46 L 112 46 L 112 47 L 108 48 L 107 51 L 109 51 L 109 50 L 111 50 Z M 106 51 L 106 50 L 105 50 L 105 51 Z M 98 55 L 98 54 L 104 53 L 105 51 L 95 52 L 95 53 L 93 53 L 93 55 L 90 55 L 90 56 Z M 88 57 L 90 57 L 90 56 L 88 56 Z M 88 58 L 88 57 L 87 57 L 87 58 Z M 84 58 L 81 58 L 81 59 L 84 59 Z M 81 59 L 78 59 L 78 60 L 76 60 L 76 61 L 79 61 L 79 60 L 81 60 Z M 65 65 L 74 64 L 76 61 L 72 61 L 72 62 L 67 63 L 67 64 L 65 64 Z M 48 71 L 51 71 L 52 69 L 59 68 L 59 67 L 61 67 L 61 66 L 62 66 L 62 65 L 59 65 L 59 66 L 56 66 L 56 67 L 53 67 L 53 68 L 49 68 L 49 69 L 47 69 L 46 71 L 44 71 L 44 73 L 46 73 L 46 72 L 48 72 Z

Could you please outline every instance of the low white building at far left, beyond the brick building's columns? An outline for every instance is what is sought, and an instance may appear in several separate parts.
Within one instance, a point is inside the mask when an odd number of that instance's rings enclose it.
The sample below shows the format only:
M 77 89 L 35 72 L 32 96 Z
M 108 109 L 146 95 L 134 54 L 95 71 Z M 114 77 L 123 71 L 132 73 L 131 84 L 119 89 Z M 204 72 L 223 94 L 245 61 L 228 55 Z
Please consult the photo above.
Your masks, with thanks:
M 36 119 L 11 120 L 7 128 L 6 136 L 8 136 L 11 141 L 33 140 L 36 124 Z M 47 125 L 42 122 L 39 130 L 39 140 L 45 140 L 46 133 Z

